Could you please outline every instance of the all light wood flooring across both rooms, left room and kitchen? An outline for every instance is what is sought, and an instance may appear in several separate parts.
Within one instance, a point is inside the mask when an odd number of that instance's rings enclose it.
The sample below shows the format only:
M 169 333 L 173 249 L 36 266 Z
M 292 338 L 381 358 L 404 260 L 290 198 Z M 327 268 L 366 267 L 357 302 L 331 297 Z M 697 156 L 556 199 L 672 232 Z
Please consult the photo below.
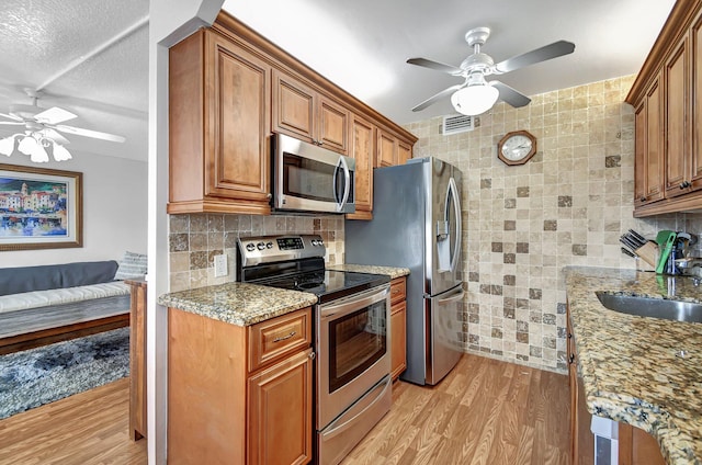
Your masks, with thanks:
M 396 382 L 393 409 L 342 462 L 568 464 L 565 375 L 466 354 L 433 388 Z M 128 378 L 0 420 L 0 465 L 141 465 Z

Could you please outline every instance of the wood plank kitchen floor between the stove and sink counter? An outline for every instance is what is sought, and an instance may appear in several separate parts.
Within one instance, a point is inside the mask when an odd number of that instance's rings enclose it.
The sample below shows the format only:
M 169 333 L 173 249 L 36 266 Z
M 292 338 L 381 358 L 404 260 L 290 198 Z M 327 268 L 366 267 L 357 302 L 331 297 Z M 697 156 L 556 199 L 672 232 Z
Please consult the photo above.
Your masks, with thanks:
M 567 465 L 569 408 L 566 375 L 466 354 L 433 388 L 396 382 L 341 464 Z

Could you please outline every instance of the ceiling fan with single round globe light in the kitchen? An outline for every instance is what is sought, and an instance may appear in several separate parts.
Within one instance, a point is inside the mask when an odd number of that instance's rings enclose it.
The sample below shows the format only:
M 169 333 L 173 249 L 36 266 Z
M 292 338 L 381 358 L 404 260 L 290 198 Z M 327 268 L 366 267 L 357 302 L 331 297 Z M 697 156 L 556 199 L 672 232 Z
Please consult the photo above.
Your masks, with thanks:
M 485 113 L 492 107 L 498 98 L 511 106 L 524 106 L 531 102 L 531 99 L 526 95 L 503 82 L 497 80 L 488 82 L 485 78 L 491 75 L 503 75 L 525 66 L 571 54 L 575 50 L 575 44 L 558 41 L 495 64 L 489 55 L 480 52 L 480 46 L 485 45 L 489 35 L 489 27 L 475 27 L 465 34 L 465 41 L 468 43 L 468 46 L 473 47 L 473 55 L 464 59 L 458 68 L 426 58 L 408 59 L 407 63 L 410 65 L 423 66 L 424 68 L 434 69 L 464 79 L 463 83 L 442 90 L 415 106 L 412 111 L 418 112 L 424 110 L 427 106 L 449 94 L 451 94 L 453 107 L 458 113 L 466 115 Z

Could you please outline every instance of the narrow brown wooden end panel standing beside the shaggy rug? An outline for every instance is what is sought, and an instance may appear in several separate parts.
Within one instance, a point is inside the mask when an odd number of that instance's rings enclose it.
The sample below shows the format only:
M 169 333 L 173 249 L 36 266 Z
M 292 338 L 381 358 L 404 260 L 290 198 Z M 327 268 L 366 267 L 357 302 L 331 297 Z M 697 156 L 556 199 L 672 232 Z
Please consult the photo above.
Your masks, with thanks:
M 129 436 L 146 438 L 146 281 L 127 280 L 129 310 Z

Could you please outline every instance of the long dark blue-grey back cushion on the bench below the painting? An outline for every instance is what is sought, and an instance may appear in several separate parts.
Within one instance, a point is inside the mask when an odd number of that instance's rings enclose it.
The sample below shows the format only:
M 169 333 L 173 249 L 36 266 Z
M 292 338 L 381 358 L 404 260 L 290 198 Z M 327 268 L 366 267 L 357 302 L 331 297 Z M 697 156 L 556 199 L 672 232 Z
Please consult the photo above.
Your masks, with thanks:
M 0 296 L 106 283 L 114 280 L 114 260 L 0 269 Z

